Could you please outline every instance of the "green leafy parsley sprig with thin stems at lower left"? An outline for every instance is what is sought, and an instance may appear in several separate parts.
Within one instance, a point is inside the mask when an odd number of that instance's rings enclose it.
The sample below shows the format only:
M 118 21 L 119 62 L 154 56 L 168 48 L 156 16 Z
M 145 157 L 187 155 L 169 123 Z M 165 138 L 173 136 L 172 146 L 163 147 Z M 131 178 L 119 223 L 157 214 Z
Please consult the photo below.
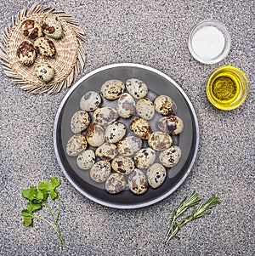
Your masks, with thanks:
M 48 225 L 51 225 L 54 231 L 59 236 L 60 250 L 63 250 L 64 241 L 60 234 L 59 229 L 59 213 L 60 213 L 60 201 L 59 194 L 56 191 L 56 188 L 61 184 L 61 180 L 52 176 L 50 180 L 45 179 L 41 183 L 38 184 L 37 187 L 31 186 L 28 189 L 22 190 L 22 196 L 28 200 L 26 204 L 26 209 L 21 211 L 21 215 L 23 216 L 23 225 L 32 226 L 33 219 L 41 219 Z M 48 204 L 48 197 L 52 200 L 58 200 L 57 213 L 54 213 L 53 208 Z M 52 215 L 54 222 L 49 221 L 41 216 L 35 214 L 38 210 L 41 210 L 43 207 L 48 208 L 49 213 Z

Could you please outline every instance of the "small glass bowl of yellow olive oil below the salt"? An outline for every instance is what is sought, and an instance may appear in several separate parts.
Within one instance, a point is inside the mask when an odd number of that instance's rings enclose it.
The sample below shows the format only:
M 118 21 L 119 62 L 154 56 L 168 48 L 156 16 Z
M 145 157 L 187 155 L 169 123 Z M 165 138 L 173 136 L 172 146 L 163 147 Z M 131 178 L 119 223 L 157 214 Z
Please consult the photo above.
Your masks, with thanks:
M 248 90 L 246 75 L 235 66 L 219 67 L 207 79 L 207 98 L 220 110 L 239 107 L 246 100 Z

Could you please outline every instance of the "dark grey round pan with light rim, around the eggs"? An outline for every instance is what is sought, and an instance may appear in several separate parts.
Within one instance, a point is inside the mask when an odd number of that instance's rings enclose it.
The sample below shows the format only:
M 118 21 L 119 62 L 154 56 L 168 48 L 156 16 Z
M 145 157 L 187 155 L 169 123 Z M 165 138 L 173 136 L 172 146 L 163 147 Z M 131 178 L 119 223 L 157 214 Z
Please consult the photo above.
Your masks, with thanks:
M 89 171 L 77 167 L 76 157 L 67 156 L 65 153 L 65 145 L 72 135 L 71 117 L 79 110 L 82 95 L 89 90 L 99 92 L 101 85 L 107 80 L 119 79 L 126 82 L 128 78 L 138 78 L 144 81 L 150 89 L 148 97 L 151 100 L 155 99 L 158 94 L 170 96 L 178 106 L 176 115 L 184 121 L 183 133 L 173 136 L 173 144 L 182 149 L 180 161 L 174 168 L 167 169 L 167 178 L 159 188 L 150 187 L 144 195 L 140 196 L 134 195 L 128 188 L 116 195 L 109 194 L 105 191 L 104 184 L 95 183 L 90 179 Z M 151 125 L 156 128 L 155 123 Z M 195 162 L 198 143 L 198 122 L 187 95 L 173 79 L 145 65 L 129 63 L 106 65 L 82 77 L 65 95 L 54 122 L 54 150 L 65 177 L 82 195 L 110 208 L 143 208 L 171 195 L 190 174 Z

